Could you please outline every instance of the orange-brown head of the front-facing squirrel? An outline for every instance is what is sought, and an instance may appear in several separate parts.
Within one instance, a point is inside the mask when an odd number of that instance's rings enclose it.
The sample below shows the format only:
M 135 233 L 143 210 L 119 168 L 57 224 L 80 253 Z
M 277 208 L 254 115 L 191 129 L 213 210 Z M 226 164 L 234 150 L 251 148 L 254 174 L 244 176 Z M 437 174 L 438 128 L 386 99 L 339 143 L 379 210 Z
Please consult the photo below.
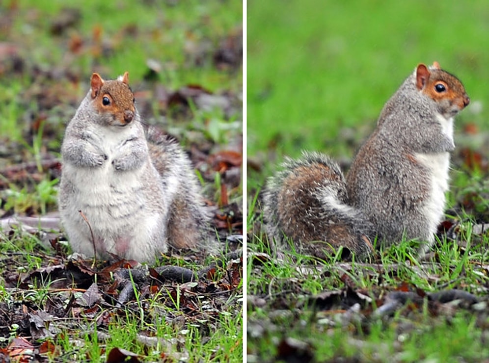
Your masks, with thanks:
M 114 80 L 104 80 L 94 73 L 90 85 L 92 103 L 103 123 L 127 126 L 134 120 L 136 107 L 128 72 Z

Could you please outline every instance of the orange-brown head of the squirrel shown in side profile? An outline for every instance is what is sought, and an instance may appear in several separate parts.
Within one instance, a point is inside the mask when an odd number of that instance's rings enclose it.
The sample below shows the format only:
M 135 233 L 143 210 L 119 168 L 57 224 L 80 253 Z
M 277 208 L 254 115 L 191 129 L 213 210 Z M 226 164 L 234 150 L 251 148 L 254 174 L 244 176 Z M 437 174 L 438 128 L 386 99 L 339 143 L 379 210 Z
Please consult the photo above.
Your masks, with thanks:
M 462 82 L 450 73 L 440 69 L 438 62 L 431 67 L 419 64 L 416 68 L 416 88 L 432 99 L 438 112 L 451 118 L 470 103 Z

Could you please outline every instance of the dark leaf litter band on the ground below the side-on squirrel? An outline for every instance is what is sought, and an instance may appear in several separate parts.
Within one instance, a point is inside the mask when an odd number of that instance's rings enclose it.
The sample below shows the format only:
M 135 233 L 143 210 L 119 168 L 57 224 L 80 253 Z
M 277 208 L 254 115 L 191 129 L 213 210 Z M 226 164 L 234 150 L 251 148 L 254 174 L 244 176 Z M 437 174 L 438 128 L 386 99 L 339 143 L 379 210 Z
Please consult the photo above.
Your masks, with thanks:
M 253 275 L 266 275 L 263 270 L 264 259 L 267 260 L 267 264 L 276 266 L 288 263 L 264 255 L 266 254 L 248 255 L 248 259 L 252 259 L 250 280 L 253 279 Z M 420 269 L 412 267 L 415 271 L 426 275 L 423 267 Z M 262 286 L 261 294 L 248 293 L 247 296 L 247 360 L 259 362 L 266 359 L 262 355 L 263 351 L 260 353 L 253 347 L 259 346 L 260 341 L 269 341 L 271 337 L 277 336 L 275 339 L 272 338 L 273 360 L 317 362 L 319 359 L 322 361 L 317 356 L 321 342 L 315 338 L 315 335 L 342 329 L 346 331 L 345 339 L 354 339 L 350 343 L 352 349 L 350 355 L 356 349 L 361 349 L 358 344 L 362 346 L 365 344 L 361 341 L 370 334 L 372 326 L 377 322 L 385 327 L 397 324 L 399 327 L 397 334 L 406 336 L 416 334 L 422 324 L 436 326 L 442 321 L 450 322 L 461 312 L 475 317 L 474 328 L 485 331 L 483 337 L 487 337 L 488 272 L 487 266 L 480 267 L 479 271 L 483 276 L 473 286 L 461 284 L 457 288 L 443 288 L 441 285 L 440 290 L 433 292 L 425 291 L 414 283 L 404 280 L 402 271 L 406 266 L 380 263 L 342 262 L 326 266 L 309 265 L 298 269 L 295 277 L 275 279 L 270 276 L 270 285 Z M 384 282 L 382 276 L 386 270 L 392 279 Z M 327 280 L 337 288 L 311 293 L 305 287 L 307 275 L 316 276 L 320 281 Z M 362 280 L 370 280 L 372 286 L 364 287 L 364 284 L 359 283 Z M 438 279 L 433 276 L 432 280 Z M 251 284 L 253 285 L 253 282 Z M 467 287 L 475 293 L 464 290 Z M 349 362 L 341 353 L 335 353 L 334 356 L 336 358 L 327 362 L 338 360 Z M 363 362 L 367 359 L 360 358 L 359 354 L 353 357 L 356 357 L 353 358 L 353 362 Z M 390 359 L 397 361 L 393 357 Z

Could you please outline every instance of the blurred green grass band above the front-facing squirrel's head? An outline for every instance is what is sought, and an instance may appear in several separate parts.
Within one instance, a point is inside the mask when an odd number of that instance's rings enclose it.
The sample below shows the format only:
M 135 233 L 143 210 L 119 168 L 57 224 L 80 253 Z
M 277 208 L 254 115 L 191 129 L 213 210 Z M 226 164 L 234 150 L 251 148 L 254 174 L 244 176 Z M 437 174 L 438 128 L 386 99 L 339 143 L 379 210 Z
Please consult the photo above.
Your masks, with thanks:
M 12 0 L 9 7 L 15 8 L 9 40 L 26 47 L 33 63 L 49 67 L 61 59 L 67 62 L 63 68 L 89 75 L 99 65 L 110 73 L 106 77 L 130 70 L 136 80 L 147 72 L 146 61 L 152 58 L 163 63 L 171 88 L 192 82 L 213 91 L 241 89 L 240 77 L 220 72 L 212 59 L 204 59 L 200 67 L 191 62 L 192 55 L 202 55 L 197 53 L 216 46 L 217 39 L 241 24 L 241 1 Z M 72 14 L 74 23 L 63 25 L 70 20 L 69 13 L 60 15 L 67 8 L 79 15 Z M 84 47 L 100 40 L 105 52 L 69 56 L 77 38 Z

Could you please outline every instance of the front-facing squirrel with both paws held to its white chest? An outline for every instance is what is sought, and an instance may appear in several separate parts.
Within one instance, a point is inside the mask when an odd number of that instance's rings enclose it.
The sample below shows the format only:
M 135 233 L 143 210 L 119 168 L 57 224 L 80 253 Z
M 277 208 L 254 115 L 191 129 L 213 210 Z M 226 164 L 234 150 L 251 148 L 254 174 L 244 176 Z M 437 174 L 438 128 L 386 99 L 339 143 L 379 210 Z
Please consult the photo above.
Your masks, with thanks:
M 169 136 L 143 128 L 128 72 L 92 75 L 61 155 L 59 211 L 74 252 L 152 262 L 168 244 L 207 247 L 210 215 L 190 160 Z

